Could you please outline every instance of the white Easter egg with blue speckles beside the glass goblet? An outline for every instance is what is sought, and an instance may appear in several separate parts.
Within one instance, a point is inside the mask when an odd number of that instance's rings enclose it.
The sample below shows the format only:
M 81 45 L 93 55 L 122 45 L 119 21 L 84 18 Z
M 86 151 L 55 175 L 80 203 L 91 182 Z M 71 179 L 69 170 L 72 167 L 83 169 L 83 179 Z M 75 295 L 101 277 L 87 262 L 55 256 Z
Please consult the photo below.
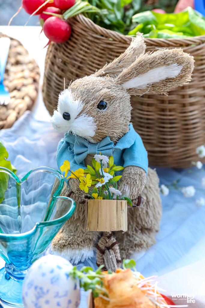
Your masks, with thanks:
M 23 283 L 25 308 L 78 308 L 79 281 L 69 276 L 73 265 L 62 257 L 47 255 L 30 267 Z

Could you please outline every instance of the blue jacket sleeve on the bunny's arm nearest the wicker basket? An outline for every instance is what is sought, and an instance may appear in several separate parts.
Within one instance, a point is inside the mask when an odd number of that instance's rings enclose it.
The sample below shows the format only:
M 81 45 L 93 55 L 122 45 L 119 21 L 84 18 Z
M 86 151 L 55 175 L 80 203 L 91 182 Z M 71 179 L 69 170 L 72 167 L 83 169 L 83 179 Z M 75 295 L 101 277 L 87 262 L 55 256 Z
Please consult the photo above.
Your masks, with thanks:
M 130 148 L 126 148 L 123 153 L 123 167 L 137 166 L 147 173 L 148 156 L 141 137 L 136 133 L 135 142 Z

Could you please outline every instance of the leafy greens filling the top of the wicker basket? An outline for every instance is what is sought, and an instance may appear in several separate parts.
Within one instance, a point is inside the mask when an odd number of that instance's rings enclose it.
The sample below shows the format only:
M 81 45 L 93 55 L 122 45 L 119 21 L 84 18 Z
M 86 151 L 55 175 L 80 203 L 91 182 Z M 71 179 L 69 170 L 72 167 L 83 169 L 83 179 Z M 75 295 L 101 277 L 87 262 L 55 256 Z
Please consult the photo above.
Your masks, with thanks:
M 80 0 L 76 3 L 85 3 Z M 135 36 L 139 31 L 144 37 L 150 38 L 187 38 L 205 34 L 205 18 L 203 15 L 188 7 L 178 14 L 160 14 L 153 11 L 145 11 L 136 14 L 140 10 L 138 0 L 88 0 L 92 9 L 84 10 L 86 17 L 95 24 Z M 72 7 L 63 16 L 65 19 L 73 16 Z M 77 13 L 78 14 L 78 13 Z

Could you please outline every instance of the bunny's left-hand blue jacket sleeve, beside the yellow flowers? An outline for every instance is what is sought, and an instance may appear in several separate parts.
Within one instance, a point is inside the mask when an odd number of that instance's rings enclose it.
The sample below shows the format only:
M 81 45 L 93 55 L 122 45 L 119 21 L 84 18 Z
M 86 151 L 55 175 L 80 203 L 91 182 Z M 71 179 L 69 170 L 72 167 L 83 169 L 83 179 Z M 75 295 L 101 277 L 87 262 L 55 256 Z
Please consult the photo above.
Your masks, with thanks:
M 61 141 L 58 144 L 57 147 L 57 155 L 56 155 L 56 161 L 57 161 L 57 166 L 58 169 L 61 172 L 60 167 L 62 166 L 62 164 L 64 163 L 65 160 L 68 160 L 70 162 L 70 170 L 71 171 L 75 171 L 79 168 L 85 169 L 85 163 L 84 160 L 81 162 L 81 164 L 77 164 L 75 159 L 74 159 L 74 153 L 73 150 L 70 148 L 70 144 L 65 141 L 65 139 L 61 139 Z M 68 179 L 65 178 L 65 172 L 61 172 L 64 176 L 64 180 L 65 182 L 68 184 Z M 68 176 L 70 176 L 71 173 L 68 172 Z

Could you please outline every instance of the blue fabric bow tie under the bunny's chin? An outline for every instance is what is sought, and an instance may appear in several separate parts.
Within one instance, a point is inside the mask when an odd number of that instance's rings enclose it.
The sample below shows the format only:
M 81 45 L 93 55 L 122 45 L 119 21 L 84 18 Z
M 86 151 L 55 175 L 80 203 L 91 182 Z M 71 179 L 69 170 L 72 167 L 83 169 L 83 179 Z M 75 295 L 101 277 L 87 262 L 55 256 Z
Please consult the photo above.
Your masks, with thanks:
M 66 133 L 64 139 L 69 142 L 77 164 L 80 164 L 88 154 L 100 154 L 101 152 L 102 155 L 111 156 L 113 153 L 114 143 L 110 140 L 110 137 L 104 138 L 99 143 L 89 143 L 80 136 Z

